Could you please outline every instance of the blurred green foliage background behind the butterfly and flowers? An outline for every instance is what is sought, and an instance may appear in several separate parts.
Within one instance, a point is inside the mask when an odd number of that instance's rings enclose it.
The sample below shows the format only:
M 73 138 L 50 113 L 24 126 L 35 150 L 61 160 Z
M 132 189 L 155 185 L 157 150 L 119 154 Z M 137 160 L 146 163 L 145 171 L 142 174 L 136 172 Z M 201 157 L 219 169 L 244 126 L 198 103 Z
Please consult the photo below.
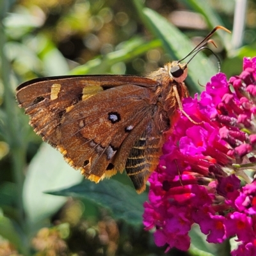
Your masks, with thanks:
M 217 25 L 209 45 L 228 77 L 256 56 L 255 1 L 0 0 L 0 255 L 229 255 L 196 229 L 188 253 L 157 248 L 142 226 L 147 191 L 123 173 L 94 184 L 36 136 L 15 101 L 35 77 L 145 76 L 186 56 Z M 235 15 L 236 13 L 236 15 Z M 191 95 L 218 72 L 211 51 L 189 63 Z

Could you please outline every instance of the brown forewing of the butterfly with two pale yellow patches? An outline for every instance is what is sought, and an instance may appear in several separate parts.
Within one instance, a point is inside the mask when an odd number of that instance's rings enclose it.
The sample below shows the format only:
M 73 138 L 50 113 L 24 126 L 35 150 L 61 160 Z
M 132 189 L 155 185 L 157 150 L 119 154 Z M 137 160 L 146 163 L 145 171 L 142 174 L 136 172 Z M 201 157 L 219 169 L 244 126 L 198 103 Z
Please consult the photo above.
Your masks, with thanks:
M 61 118 L 78 102 L 109 88 L 131 83 L 156 86 L 156 81 L 130 76 L 63 76 L 33 79 L 17 87 L 19 106 L 30 116 L 35 132 L 52 146 L 59 145 Z

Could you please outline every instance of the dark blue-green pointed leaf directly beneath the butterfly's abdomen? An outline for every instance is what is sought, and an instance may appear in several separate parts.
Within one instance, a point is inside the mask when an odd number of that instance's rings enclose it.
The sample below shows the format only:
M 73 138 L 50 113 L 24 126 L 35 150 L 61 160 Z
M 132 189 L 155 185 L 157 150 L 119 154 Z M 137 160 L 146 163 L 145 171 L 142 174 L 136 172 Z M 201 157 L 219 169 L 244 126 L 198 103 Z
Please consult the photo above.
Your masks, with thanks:
M 138 195 L 134 188 L 114 179 L 102 180 L 98 184 L 84 180 L 76 186 L 48 193 L 90 200 L 110 209 L 115 218 L 135 225 L 142 223 L 143 202 L 147 200 L 147 193 Z

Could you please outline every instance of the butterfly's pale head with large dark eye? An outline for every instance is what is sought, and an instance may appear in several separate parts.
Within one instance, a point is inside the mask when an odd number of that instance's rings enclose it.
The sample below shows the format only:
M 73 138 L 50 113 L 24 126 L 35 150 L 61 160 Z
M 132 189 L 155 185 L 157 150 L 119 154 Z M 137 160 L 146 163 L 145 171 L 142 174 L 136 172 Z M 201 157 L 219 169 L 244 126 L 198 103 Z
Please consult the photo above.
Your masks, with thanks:
M 177 83 L 182 83 L 188 76 L 188 63 L 179 63 L 179 61 L 172 61 L 166 66 L 169 76 Z

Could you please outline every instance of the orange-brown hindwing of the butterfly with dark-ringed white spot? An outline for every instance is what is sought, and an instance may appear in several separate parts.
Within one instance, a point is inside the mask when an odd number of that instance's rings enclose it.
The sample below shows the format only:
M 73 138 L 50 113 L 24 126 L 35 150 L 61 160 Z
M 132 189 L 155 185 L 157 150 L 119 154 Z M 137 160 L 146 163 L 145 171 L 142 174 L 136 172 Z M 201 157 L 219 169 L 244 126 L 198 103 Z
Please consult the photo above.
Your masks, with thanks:
M 127 86 L 129 88 L 125 88 Z M 147 116 L 147 110 L 153 108 L 145 100 L 149 97 L 147 88 L 126 84 L 76 104 L 63 116 L 60 125 L 58 147 L 65 151 L 67 161 L 81 168 L 91 180 L 102 179 L 107 170 L 115 173 L 115 166 L 110 167 L 122 142 L 129 136 L 128 130 L 136 127 Z M 119 168 L 118 171 L 122 172 Z

